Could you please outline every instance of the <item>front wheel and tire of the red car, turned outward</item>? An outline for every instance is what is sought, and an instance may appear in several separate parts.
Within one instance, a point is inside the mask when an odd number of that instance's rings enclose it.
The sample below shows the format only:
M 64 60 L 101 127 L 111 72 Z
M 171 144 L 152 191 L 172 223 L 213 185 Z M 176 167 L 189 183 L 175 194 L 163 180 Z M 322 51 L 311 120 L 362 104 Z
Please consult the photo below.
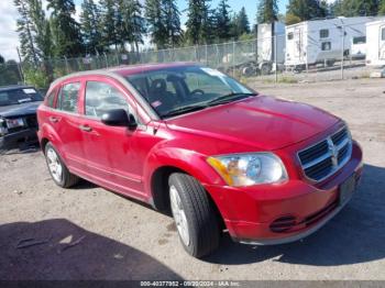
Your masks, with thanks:
M 220 229 L 205 188 L 197 179 L 183 173 L 172 174 L 168 185 L 172 212 L 184 248 L 197 258 L 211 254 L 219 246 Z M 179 203 L 175 196 L 179 197 Z M 185 213 L 185 220 L 183 215 L 177 215 L 180 211 Z M 184 221 L 187 223 L 187 241 L 182 228 Z

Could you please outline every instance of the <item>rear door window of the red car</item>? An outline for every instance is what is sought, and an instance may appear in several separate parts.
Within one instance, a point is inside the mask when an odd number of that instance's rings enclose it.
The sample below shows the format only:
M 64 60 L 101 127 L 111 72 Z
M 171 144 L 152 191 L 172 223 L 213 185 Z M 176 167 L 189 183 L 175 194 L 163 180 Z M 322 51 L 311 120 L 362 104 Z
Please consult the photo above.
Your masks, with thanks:
M 56 109 L 76 113 L 80 87 L 80 82 L 72 82 L 64 85 L 57 97 Z

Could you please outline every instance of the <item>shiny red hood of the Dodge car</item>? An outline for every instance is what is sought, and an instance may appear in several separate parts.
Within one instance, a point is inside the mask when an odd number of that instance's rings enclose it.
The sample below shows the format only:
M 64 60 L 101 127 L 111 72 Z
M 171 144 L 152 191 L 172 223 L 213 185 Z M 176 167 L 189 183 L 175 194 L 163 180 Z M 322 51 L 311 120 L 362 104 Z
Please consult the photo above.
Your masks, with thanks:
M 315 107 L 257 96 L 166 121 L 172 130 L 274 151 L 311 137 L 339 121 Z

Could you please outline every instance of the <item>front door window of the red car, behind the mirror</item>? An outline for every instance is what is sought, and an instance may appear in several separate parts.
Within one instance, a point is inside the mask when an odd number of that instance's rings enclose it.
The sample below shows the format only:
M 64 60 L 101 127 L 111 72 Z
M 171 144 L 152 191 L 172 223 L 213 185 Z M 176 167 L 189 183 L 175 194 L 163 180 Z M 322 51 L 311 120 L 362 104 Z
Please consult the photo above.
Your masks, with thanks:
M 89 117 L 101 118 L 112 109 L 124 109 L 130 112 L 124 95 L 106 82 L 87 81 L 85 113 Z

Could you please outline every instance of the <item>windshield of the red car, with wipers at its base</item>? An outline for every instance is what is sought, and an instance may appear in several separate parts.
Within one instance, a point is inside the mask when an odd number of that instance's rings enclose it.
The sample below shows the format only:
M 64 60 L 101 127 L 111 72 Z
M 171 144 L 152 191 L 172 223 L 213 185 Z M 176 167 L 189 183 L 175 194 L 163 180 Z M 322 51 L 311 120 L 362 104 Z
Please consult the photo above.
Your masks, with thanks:
M 199 66 L 143 71 L 125 78 L 163 119 L 255 95 L 229 76 Z

